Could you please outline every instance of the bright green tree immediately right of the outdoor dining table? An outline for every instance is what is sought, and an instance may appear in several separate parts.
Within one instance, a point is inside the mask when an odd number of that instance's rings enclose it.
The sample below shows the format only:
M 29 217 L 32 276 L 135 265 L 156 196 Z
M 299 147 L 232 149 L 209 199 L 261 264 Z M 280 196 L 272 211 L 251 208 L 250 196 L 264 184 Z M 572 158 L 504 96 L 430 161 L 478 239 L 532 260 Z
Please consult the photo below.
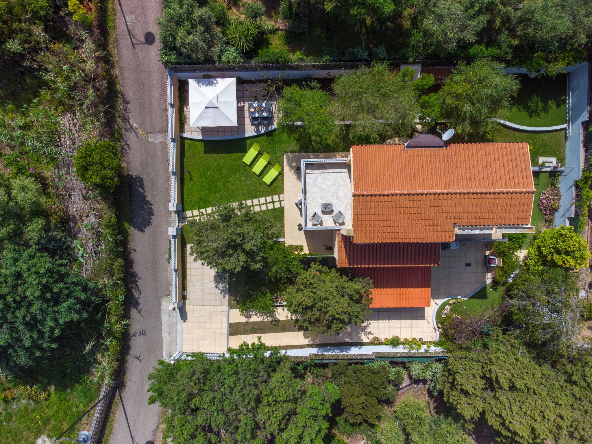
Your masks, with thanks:
M 278 101 L 278 126 L 282 131 L 297 133 L 304 138 L 304 145 L 312 149 L 324 147 L 336 133 L 335 120 L 330 115 L 331 96 L 311 82 L 310 87 L 288 86 Z M 301 126 L 294 125 L 301 122 Z

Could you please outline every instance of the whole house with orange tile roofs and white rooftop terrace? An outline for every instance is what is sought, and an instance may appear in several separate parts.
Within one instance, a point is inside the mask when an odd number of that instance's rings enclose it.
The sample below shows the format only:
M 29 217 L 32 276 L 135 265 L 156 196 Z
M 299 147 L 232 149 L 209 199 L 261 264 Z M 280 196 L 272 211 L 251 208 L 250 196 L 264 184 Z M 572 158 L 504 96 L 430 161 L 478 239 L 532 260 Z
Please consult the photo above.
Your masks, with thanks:
M 429 307 L 442 249 L 535 231 L 527 143 L 422 134 L 300 162 L 304 238 L 333 230 L 337 267 L 374 282 L 372 308 Z

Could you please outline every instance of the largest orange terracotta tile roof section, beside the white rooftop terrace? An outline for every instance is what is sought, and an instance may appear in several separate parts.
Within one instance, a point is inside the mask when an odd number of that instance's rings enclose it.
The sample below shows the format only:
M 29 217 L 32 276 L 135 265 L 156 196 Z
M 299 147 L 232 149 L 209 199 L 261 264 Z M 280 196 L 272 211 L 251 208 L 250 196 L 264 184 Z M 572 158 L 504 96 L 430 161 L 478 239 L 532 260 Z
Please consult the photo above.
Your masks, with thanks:
M 453 225 L 527 225 L 527 143 L 352 146 L 353 242 L 451 242 Z

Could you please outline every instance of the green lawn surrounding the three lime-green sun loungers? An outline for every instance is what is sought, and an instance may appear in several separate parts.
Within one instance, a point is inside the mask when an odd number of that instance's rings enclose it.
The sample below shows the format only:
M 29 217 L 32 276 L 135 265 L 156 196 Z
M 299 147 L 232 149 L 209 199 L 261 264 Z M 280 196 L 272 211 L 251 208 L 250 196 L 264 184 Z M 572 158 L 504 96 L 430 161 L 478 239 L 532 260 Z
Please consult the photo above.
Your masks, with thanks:
M 271 155 L 270 163 L 257 176 L 252 172 L 260 155 L 250 166 L 243 157 L 253 143 L 262 153 Z M 199 141 L 181 139 L 181 198 L 183 209 L 197 210 L 218 203 L 237 202 L 274 194 L 283 194 L 283 172 L 268 186 L 263 177 L 277 162 L 284 166 L 284 153 L 297 152 L 295 140 L 280 131 L 272 131 L 251 139 Z

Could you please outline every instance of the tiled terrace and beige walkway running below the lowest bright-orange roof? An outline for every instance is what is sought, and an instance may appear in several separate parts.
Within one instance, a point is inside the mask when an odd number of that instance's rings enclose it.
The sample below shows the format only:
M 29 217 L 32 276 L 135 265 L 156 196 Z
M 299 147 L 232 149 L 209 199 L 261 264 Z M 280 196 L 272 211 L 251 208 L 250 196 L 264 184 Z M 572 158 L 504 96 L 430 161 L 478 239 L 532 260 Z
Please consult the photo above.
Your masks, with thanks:
M 338 335 L 320 336 L 317 342 L 307 337 L 306 332 L 243 334 L 230 336 L 229 346 L 236 347 L 244 341 L 253 342 L 257 336 L 267 345 L 303 345 L 333 342 L 368 342 L 373 336 L 385 339 L 398 336 L 401 339 L 412 337 L 423 340 L 436 340 L 436 332 L 432 325 L 433 311 L 445 298 L 451 296 L 466 297 L 483 282 L 491 277 L 485 267 L 484 256 L 490 251 L 491 243 L 487 242 L 459 242 L 455 250 L 443 250 L 440 255 L 440 265 L 432 267 L 432 304 L 425 308 L 376 308 L 374 315 L 362 326 L 350 326 Z M 467 266 L 466 264 L 471 264 Z M 289 315 L 278 312 L 278 318 L 288 318 Z M 231 320 L 244 321 L 236 313 Z M 263 320 L 263 318 L 252 318 Z

